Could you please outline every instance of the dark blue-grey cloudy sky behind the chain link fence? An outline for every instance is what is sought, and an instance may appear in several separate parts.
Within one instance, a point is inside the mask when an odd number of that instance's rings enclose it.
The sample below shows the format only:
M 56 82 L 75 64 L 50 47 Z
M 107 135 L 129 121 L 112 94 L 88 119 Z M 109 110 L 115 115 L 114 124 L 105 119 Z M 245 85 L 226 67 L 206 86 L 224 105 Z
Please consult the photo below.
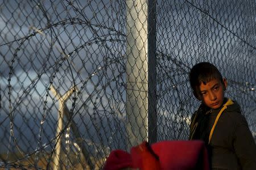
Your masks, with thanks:
M 0 131 L 4 131 L 0 138 L 5 141 L 1 150 L 14 145 L 9 142 L 10 118 L 24 151 L 36 149 L 38 143 L 33 141 L 39 140 L 40 128 L 42 143 L 52 145 L 58 101 L 49 90 L 51 83 L 61 95 L 77 86 L 67 107 L 73 109 L 86 140 L 110 149 L 125 148 L 125 3 L 0 2 Z M 227 95 L 242 105 L 250 129 L 256 129 L 255 22 L 251 22 L 256 7 L 247 3 L 158 1 L 159 140 L 187 138 L 189 118 L 200 104 L 189 88 L 188 71 L 200 61 L 217 65 L 228 79 Z

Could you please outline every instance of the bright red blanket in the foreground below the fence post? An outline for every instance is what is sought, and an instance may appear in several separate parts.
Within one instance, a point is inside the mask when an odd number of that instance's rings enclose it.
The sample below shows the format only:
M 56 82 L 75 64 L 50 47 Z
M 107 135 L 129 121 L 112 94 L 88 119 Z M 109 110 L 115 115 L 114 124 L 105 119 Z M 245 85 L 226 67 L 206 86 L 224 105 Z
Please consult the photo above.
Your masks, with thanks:
M 208 155 L 203 141 L 147 142 L 129 152 L 114 150 L 106 160 L 104 170 L 123 168 L 140 170 L 209 169 Z

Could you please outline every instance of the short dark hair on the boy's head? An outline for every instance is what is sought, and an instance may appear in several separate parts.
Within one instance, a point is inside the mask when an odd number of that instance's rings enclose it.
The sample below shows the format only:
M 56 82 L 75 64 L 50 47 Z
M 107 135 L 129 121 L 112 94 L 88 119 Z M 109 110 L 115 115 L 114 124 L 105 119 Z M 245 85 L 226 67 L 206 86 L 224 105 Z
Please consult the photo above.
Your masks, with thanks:
M 194 92 L 196 87 L 199 87 L 203 82 L 204 84 L 210 82 L 212 79 L 220 79 L 222 82 L 222 75 L 217 67 L 209 62 L 200 62 L 192 67 L 189 73 L 189 82 Z

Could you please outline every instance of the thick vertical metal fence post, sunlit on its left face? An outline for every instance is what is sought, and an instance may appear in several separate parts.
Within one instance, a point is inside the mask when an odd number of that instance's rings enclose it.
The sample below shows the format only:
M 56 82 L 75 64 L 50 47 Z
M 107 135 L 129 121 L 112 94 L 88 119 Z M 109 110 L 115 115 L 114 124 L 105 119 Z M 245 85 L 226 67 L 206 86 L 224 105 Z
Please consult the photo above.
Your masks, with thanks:
M 126 1 L 126 131 L 128 149 L 142 141 L 156 141 L 154 5 L 154 1 Z

